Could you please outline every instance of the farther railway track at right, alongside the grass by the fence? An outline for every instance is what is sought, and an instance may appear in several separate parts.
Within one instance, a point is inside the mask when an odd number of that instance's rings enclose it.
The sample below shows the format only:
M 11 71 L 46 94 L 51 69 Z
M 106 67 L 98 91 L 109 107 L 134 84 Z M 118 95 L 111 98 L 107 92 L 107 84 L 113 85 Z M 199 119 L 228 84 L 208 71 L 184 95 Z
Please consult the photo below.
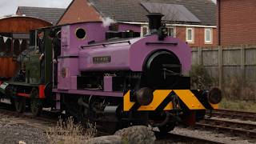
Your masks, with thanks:
M 208 115 L 210 115 L 208 113 Z M 213 117 L 218 118 L 230 118 L 230 119 L 240 119 L 242 121 L 254 121 L 256 122 L 256 113 L 237 111 L 237 110 L 214 110 L 212 112 Z

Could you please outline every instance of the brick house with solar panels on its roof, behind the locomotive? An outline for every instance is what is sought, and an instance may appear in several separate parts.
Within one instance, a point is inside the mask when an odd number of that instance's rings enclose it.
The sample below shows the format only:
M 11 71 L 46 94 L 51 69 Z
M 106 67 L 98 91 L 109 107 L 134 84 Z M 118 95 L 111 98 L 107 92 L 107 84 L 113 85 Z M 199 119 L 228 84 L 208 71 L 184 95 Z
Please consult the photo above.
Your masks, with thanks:
M 140 26 L 143 35 L 148 31 L 146 14 L 150 12 L 165 14 L 169 34 L 190 46 L 218 44 L 216 5 L 210 0 L 73 0 L 58 25 L 112 18 Z

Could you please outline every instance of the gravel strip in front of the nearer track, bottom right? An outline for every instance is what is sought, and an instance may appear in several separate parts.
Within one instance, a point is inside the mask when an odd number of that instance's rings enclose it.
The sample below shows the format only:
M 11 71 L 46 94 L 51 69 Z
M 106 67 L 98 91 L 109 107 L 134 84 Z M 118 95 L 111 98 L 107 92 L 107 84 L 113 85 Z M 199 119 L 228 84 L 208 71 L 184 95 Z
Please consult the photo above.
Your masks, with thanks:
M 238 137 L 230 137 L 226 134 L 214 133 L 213 131 L 208 131 L 208 130 L 189 130 L 186 128 L 176 127 L 173 131 L 171 131 L 171 133 L 209 139 L 209 140 L 214 140 L 215 142 L 223 142 L 223 143 L 232 143 L 232 144 L 256 143 L 255 141 L 246 140 Z

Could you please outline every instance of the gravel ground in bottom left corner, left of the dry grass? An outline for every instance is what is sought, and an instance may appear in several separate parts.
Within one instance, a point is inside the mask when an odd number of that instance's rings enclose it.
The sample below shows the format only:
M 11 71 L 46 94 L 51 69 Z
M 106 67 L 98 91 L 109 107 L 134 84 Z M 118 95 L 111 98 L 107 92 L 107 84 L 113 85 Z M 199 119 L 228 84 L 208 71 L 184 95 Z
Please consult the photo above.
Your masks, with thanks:
M 14 119 L 0 118 L 0 144 L 45 144 L 46 137 L 42 129 L 30 126 L 26 122 L 14 121 Z

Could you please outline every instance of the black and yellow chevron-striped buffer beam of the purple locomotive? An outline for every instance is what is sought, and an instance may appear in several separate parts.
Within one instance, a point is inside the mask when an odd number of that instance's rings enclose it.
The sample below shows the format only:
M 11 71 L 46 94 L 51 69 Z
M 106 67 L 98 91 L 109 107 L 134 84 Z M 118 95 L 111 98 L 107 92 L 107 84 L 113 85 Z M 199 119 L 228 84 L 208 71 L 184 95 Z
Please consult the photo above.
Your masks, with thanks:
M 218 105 L 210 104 L 203 98 L 200 90 L 154 90 L 153 101 L 148 106 L 140 106 L 130 101 L 130 90 L 124 94 L 123 110 L 173 110 L 172 98 L 177 95 L 189 110 L 217 109 Z

